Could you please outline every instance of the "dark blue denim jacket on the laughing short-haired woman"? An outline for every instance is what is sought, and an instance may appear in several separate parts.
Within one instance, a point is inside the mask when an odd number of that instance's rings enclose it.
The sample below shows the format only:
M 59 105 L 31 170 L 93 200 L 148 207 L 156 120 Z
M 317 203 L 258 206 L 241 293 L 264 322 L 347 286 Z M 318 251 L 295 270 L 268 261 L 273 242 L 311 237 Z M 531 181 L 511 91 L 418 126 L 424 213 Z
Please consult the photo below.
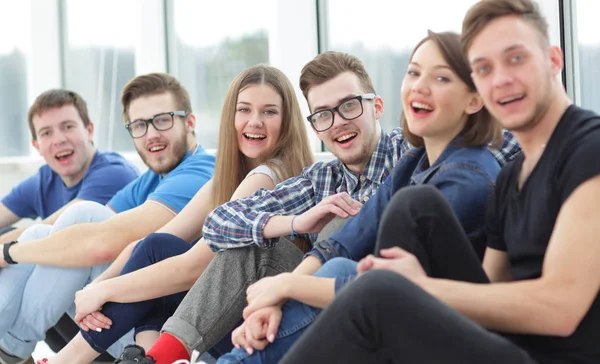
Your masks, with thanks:
M 455 138 L 433 166 L 424 148 L 405 153 L 377 192 L 329 240 L 316 242 L 307 255 L 321 263 L 334 257 L 358 261 L 375 249 L 379 221 L 396 191 L 405 186 L 429 184 L 450 202 L 467 236 L 481 257 L 485 249 L 485 206 L 494 188 L 500 165 L 487 147 L 460 147 Z

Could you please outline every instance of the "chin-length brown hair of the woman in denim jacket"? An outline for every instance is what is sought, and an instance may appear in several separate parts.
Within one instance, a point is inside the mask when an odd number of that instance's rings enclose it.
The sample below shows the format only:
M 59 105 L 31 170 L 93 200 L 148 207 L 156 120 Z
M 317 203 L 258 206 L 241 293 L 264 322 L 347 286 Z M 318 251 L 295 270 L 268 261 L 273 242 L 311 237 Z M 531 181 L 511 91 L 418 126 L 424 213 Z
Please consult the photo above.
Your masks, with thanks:
M 413 50 L 410 60 L 412 60 L 417 49 L 427 41 L 435 43 L 448 66 L 467 85 L 469 91 L 477 92 L 471 79 L 471 67 L 460 47 L 459 35 L 454 32 L 436 33 L 429 30 L 427 37 L 423 38 Z M 423 138 L 411 133 L 409 130 L 404 113 L 400 117 L 400 123 L 402 124 L 402 134 L 412 146 L 422 147 L 425 145 Z M 501 140 L 502 130 L 484 106 L 478 112 L 467 117 L 467 122 L 461 133 L 460 145 L 468 147 L 489 143 L 497 144 Z

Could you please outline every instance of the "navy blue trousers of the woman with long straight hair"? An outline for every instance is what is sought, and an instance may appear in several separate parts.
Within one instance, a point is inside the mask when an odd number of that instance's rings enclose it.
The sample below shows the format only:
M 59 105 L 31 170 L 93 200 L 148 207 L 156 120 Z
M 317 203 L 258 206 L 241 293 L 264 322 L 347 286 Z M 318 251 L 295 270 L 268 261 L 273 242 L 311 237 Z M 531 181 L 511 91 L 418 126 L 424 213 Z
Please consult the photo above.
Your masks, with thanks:
M 192 246 L 193 244 L 171 234 L 150 234 L 135 246 L 121 275 L 183 254 Z M 102 353 L 131 329 L 135 329 L 136 335 L 142 331 L 159 332 L 165 321 L 173 315 L 186 293 L 180 292 L 141 302 L 108 302 L 103 306 L 102 313 L 112 320 L 113 324 L 110 330 L 102 332 L 82 330 L 81 335 L 92 349 Z

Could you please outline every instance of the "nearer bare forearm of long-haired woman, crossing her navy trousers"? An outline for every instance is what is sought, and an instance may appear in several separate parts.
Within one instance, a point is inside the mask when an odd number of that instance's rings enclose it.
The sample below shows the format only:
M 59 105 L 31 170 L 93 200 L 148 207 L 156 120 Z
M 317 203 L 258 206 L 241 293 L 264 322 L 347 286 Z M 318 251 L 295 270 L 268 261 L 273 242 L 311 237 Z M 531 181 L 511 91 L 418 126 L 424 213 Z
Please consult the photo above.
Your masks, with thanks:
M 189 290 L 211 262 L 214 253 L 204 241 L 187 253 L 103 282 L 106 301 L 139 302 Z

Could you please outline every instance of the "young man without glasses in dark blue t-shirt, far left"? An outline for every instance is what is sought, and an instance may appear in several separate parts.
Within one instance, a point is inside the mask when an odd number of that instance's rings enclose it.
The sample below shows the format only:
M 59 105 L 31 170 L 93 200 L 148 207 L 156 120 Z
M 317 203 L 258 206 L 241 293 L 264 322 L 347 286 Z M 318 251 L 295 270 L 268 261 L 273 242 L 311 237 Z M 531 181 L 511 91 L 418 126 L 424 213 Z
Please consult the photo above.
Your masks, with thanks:
M 138 176 L 138 170 L 117 153 L 96 150 L 94 124 L 85 100 L 69 90 L 40 94 L 28 113 L 31 143 L 46 164 L 0 202 L 0 229 L 24 218 L 54 224 L 77 201 L 105 204 Z M 25 228 L 0 235 L 0 242 L 18 238 Z

